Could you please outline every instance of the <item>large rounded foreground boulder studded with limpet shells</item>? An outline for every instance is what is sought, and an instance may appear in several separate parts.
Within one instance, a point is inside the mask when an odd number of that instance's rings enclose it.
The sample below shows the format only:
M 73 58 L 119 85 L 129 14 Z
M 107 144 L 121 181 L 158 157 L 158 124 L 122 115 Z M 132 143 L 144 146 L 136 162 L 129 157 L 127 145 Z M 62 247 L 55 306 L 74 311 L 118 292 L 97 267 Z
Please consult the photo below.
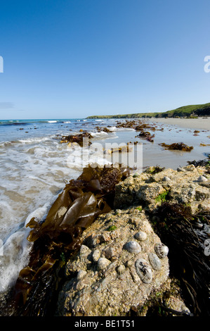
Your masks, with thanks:
M 145 213 L 136 208 L 101 216 L 82 235 L 68 261 L 60 292 L 60 316 L 124 316 L 161 292 L 169 277 L 167 256 Z

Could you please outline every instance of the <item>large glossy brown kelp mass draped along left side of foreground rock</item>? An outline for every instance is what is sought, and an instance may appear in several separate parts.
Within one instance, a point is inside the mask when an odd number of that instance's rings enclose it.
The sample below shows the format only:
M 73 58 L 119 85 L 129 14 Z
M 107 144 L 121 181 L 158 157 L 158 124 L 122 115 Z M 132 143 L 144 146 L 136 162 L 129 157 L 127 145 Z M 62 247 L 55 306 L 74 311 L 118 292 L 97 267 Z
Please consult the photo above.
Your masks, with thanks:
M 34 242 L 29 265 L 15 284 L 18 316 L 52 316 L 56 291 L 65 261 L 77 253 L 81 233 L 97 216 L 112 209 L 115 185 L 129 175 L 128 168 L 88 165 L 77 180 L 70 180 L 55 200 L 46 219 L 27 223 Z

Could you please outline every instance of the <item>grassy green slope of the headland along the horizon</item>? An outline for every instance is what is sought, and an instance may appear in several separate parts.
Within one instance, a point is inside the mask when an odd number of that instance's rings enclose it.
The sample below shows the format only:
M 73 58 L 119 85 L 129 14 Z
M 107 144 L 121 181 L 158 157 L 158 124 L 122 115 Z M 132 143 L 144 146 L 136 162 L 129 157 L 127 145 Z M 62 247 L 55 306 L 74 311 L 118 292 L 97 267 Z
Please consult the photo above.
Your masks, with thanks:
M 141 117 L 176 117 L 176 116 L 190 116 L 193 115 L 197 109 L 209 108 L 209 104 L 199 104 L 199 105 L 189 105 L 183 106 L 172 111 L 164 111 L 162 113 L 134 113 L 134 114 L 124 114 L 124 115 L 93 115 L 87 118 L 141 118 Z

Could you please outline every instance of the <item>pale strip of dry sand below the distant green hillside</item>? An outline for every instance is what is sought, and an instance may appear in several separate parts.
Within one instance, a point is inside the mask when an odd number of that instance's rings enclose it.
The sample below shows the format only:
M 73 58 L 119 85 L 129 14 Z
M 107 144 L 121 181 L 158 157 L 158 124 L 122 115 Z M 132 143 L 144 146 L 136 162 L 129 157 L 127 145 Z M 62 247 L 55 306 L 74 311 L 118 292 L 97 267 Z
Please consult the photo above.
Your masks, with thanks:
M 189 129 L 210 130 L 210 118 L 147 118 L 147 120 Z

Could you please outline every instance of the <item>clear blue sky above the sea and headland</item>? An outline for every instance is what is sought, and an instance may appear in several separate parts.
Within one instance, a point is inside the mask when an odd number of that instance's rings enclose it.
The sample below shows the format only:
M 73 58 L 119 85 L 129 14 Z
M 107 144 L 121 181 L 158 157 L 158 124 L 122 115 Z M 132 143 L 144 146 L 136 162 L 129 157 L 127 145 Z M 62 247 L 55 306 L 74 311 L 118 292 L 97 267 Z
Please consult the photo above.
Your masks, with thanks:
M 210 102 L 209 0 L 0 0 L 0 119 Z

